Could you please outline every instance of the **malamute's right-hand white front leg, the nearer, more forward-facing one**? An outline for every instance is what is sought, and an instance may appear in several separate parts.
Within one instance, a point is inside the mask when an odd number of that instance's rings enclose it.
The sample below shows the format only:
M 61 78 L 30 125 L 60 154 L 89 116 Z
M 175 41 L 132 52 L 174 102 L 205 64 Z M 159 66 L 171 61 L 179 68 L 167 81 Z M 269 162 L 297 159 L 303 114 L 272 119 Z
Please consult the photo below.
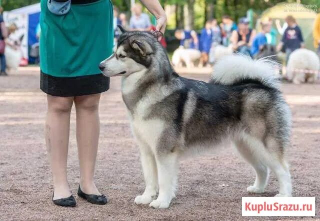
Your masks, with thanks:
M 175 197 L 177 185 L 178 160 L 177 153 L 156 154 L 156 168 L 158 171 L 159 195 L 149 206 L 153 208 L 168 208 Z

